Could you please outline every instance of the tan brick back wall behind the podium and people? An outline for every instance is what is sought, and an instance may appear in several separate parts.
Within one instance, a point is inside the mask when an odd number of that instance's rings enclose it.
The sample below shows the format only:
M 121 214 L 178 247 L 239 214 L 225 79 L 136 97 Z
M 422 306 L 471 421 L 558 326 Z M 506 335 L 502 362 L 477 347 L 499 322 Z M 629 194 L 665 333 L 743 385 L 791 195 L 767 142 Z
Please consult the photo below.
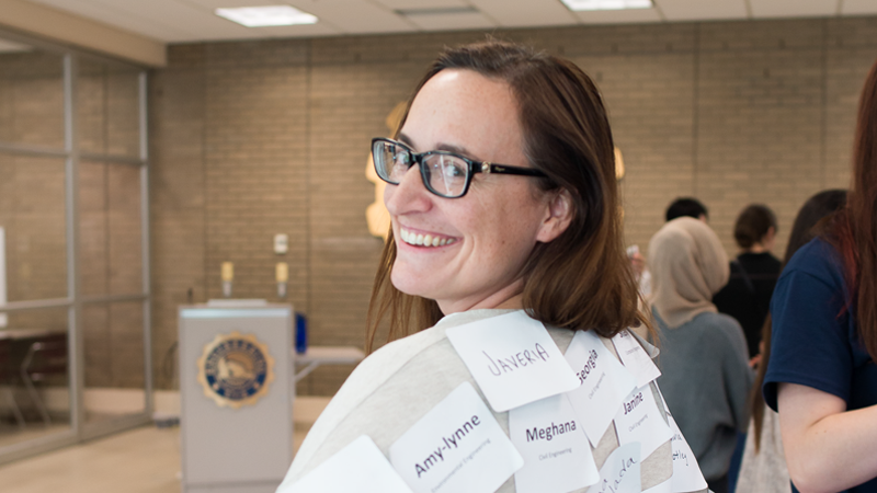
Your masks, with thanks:
M 877 19 L 520 30 L 511 39 L 570 57 L 601 87 L 624 152 L 626 237 L 643 250 L 667 204 L 695 195 L 729 254 L 752 202 L 779 218 L 843 187 L 855 106 L 877 56 Z M 443 45 L 483 33 L 172 46 L 150 78 L 153 360 L 175 341 L 176 306 L 235 295 L 277 301 L 275 262 L 312 344 L 362 345 L 380 241 L 364 210 L 368 139 Z M 289 253 L 275 255 L 274 233 Z M 300 393 L 331 394 L 348 367 Z M 159 375 L 160 387 L 171 386 Z

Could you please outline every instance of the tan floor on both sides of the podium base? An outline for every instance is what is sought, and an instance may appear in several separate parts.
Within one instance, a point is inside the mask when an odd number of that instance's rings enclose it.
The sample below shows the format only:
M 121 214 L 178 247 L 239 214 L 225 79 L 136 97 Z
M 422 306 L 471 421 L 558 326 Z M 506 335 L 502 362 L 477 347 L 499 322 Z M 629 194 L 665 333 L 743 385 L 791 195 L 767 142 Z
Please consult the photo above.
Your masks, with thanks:
M 328 402 L 296 399 L 296 449 Z M 0 466 L 0 491 L 179 493 L 180 429 L 141 427 Z

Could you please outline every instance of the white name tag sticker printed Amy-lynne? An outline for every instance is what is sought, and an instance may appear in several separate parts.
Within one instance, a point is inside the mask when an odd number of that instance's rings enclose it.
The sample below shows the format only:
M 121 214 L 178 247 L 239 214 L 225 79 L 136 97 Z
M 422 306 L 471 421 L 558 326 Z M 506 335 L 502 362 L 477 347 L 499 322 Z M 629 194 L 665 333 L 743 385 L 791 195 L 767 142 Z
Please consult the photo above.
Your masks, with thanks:
M 524 466 L 469 382 L 454 389 L 389 451 L 390 463 L 414 493 L 493 493 Z

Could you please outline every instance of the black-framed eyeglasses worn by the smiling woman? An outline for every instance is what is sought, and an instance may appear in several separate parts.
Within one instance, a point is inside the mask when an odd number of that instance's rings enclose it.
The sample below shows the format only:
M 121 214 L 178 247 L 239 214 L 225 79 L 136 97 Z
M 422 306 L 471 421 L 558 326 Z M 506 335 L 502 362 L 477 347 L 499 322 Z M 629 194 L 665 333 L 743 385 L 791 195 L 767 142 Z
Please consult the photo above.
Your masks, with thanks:
M 430 192 L 445 198 L 466 195 L 475 173 L 546 176 L 539 170 L 475 161 L 448 151 L 414 152 L 405 144 L 392 139 L 372 139 L 372 159 L 380 180 L 398 185 L 405 173 L 420 164 L 420 177 Z

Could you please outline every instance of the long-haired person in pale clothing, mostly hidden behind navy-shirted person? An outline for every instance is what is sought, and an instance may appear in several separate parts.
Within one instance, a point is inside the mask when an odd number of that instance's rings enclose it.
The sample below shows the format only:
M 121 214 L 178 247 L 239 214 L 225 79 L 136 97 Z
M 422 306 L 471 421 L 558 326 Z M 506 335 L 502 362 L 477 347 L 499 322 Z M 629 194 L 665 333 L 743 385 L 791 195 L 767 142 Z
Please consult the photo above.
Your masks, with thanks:
M 791 233 L 786 245 L 783 264 L 787 264 L 795 252 L 816 237 L 813 227 L 846 204 L 845 190 L 829 190 L 810 197 L 798 211 Z M 786 456 L 783 454 L 783 442 L 779 436 L 779 417 L 764 404 L 761 387 L 764 374 L 770 365 L 771 355 L 771 316 L 767 314 L 762 329 L 762 358 L 759 362 L 755 383 L 750 393 L 749 431 L 743 450 L 742 466 L 737 482 L 737 491 L 760 493 L 788 493 L 791 485 L 786 468 Z

